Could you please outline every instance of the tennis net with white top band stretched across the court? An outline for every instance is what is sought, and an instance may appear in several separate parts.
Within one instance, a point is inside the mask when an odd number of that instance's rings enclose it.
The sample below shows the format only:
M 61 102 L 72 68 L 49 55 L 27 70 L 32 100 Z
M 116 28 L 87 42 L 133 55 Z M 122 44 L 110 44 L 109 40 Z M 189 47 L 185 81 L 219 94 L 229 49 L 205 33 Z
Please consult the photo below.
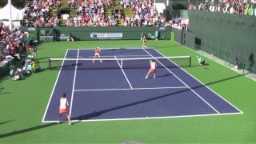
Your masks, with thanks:
M 157 58 L 50 58 L 50 70 L 104 70 L 104 69 L 148 69 L 154 59 L 158 68 L 177 68 L 191 66 L 191 56 Z

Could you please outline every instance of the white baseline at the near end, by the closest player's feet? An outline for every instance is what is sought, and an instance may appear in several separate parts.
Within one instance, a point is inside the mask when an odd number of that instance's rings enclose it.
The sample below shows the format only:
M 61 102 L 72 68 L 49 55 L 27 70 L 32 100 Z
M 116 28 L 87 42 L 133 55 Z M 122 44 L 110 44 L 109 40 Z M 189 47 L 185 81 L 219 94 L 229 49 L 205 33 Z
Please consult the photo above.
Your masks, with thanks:
M 194 118 L 218 115 L 230 115 L 241 113 L 224 113 L 224 114 L 195 114 L 195 115 L 179 115 L 179 116 L 166 116 L 166 117 L 146 117 L 146 118 L 113 118 L 113 119 L 87 119 L 87 120 L 72 120 L 71 122 L 104 122 L 104 121 L 130 121 L 130 120 L 146 120 L 146 119 L 164 119 L 164 118 Z M 58 122 L 58 121 L 45 121 L 45 122 Z M 67 121 L 61 121 L 67 122 Z

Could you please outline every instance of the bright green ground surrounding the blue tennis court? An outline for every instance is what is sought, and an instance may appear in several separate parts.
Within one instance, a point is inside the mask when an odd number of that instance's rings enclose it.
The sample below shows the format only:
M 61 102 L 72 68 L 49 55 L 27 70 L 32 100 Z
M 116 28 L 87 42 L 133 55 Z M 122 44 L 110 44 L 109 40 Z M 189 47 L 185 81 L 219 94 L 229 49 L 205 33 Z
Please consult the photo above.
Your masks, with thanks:
M 38 46 L 42 68 L 47 58 L 63 57 L 67 48 L 141 47 L 140 41 L 46 42 Z M 42 70 L 25 80 L 0 82 L 0 143 L 256 143 L 256 82 L 206 58 L 196 66 L 194 51 L 170 41 L 150 41 L 166 56 L 191 55 L 185 70 L 221 94 L 244 114 L 112 122 L 73 126 L 42 123 L 57 70 Z

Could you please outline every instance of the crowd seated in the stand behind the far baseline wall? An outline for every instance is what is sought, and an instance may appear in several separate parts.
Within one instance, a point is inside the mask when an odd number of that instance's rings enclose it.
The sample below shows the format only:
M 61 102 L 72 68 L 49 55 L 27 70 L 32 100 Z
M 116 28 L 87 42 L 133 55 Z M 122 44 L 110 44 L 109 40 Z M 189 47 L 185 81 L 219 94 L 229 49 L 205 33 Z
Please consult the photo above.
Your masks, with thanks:
M 25 26 L 60 26 L 58 16 L 50 16 L 50 9 L 58 6 L 60 0 L 29 0 L 23 18 Z M 77 14 L 66 19 L 66 26 L 165 26 L 165 18 L 153 0 L 119 0 L 118 9 L 112 0 L 67 0 L 67 6 L 76 8 Z M 113 11 L 106 14 L 108 9 Z M 124 14 L 126 9 L 132 14 Z

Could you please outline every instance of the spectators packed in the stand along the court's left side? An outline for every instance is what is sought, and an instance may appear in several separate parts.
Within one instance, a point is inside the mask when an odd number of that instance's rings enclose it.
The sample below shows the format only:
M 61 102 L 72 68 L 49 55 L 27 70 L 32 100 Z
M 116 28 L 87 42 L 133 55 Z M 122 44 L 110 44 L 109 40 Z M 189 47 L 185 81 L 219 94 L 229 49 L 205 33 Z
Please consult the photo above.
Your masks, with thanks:
M 21 30 L 9 30 L 0 22 L 0 66 L 10 65 L 10 76 L 14 81 L 32 74 L 38 68 L 37 62 L 27 55 L 26 48 L 30 47 L 30 43 L 28 34 Z M 16 62 L 20 64 L 16 65 Z

